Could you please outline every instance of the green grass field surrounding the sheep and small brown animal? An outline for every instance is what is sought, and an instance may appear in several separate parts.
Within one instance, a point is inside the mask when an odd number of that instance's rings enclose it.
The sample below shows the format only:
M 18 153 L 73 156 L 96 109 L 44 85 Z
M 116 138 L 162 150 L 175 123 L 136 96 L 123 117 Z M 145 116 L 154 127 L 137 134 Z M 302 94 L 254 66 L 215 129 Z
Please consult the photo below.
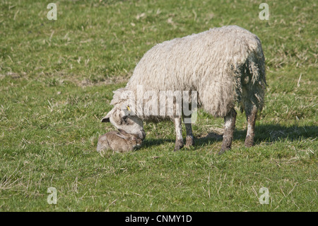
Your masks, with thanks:
M 317 1 L 265 2 L 269 21 L 255 0 L 56 1 L 49 21 L 49 1 L 1 1 L 0 211 L 317 211 Z M 114 129 L 100 123 L 112 91 L 148 49 L 230 24 L 258 35 L 266 57 L 254 147 L 239 113 L 218 156 L 223 119 L 199 111 L 194 147 L 172 152 L 165 122 L 145 124 L 139 150 L 95 151 Z

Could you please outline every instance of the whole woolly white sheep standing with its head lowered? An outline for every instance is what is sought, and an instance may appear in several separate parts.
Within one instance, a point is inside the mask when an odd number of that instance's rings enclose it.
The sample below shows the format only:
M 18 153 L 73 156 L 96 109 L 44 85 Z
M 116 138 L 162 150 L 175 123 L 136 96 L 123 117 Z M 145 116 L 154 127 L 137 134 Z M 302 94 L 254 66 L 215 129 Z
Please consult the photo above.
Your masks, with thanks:
M 261 111 L 264 106 L 266 89 L 261 42 L 257 35 L 238 26 L 213 28 L 165 41 L 143 55 L 125 88 L 114 91 L 111 101 L 114 108 L 102 118 L 102 122 L 110 122 L 116 128 L 144 139 L 143 120 L 171 118 L 175 122 L 175 150 L 180 149 L 183 147 L 184 112 L 182 115 L 177 114 L 177 111 L 172 115 L 159 115 L 158 111 L 146 114 L 143 111 L 145 103 L 138 101 L 140 87 L 143 92 L 151 91 L 151 96 L 156 97 L 160 96 L 160 91 L 196 91 L 199 106 L 207 113 L 225 120 L 220 153 L 231 147 L 237 104 L 247 115 L 245 146 L 251 147 L 257 111 Z M 178 108 L 177 105 L 181 103 L 176 99 L 173 106 L 163 107 Z M 152 101 L 157 102 L 158 98 Z M 182 98 L 182 101 L 191 104 L 189 99 Z M 186 145 L 194 145 L 192 123 L 184 124 L 187 130 Z

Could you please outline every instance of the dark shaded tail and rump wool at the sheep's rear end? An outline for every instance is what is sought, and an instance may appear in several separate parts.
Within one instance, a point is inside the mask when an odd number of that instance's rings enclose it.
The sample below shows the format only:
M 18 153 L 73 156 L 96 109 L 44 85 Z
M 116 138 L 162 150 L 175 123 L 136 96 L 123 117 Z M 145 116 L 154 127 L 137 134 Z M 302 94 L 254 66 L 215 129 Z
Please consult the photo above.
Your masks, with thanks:
M 259 41 L 259 40 L 258 40 Z M 238 101 L 241 103 L 241 111 L 247 113 L 252 111 L 254 106 L 259 111 L 264 106 L 264 96 L 266 91 L 266 72 L 265 72 L 265 57 L 261 48 L 261 43 L 257 43 L 257 47 L 249 54 L 245 64 L 240 67 L 240 83 L 242 89 L 237 90 Z

